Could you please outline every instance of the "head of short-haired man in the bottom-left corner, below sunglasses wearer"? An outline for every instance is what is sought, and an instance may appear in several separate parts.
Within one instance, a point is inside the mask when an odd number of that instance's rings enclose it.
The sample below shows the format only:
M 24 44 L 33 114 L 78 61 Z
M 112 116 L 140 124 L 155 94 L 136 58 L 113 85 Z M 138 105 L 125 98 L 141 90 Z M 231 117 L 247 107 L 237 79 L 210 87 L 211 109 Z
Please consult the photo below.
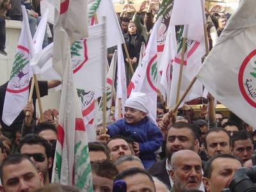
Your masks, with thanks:
M 44 177 L 28 156 L 13 154 L 4 159 L 0 168 L 0 191 L 32 191 L 44 184 Z

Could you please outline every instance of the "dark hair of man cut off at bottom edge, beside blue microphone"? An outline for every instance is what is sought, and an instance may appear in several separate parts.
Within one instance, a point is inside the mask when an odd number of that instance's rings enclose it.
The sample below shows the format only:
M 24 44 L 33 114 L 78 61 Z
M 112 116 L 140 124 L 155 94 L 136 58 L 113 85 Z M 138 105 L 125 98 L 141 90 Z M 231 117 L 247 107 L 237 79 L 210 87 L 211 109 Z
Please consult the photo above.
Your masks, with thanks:
M 154 188 L 156 191 L 156 186 L 155 186 L 154 180 L 153 180 L 152 176 L 150 175 L 150 173 L 148 173 L 147 170 L 144 170 L 144 169 L 138 168 L 138 167 L 128 168 L 127 170 L 124 170 L 124 171 L 118 173 L 118 175 L 116 175 L 114 182 L 116 180 L 124 180 L 125 177 L 133 176 L 133 175 L 136 175 L 139 173 L 141 173 L 143 175 L 147 175 L 148 179 L 150 179 L 150 181 L 154 184 Z

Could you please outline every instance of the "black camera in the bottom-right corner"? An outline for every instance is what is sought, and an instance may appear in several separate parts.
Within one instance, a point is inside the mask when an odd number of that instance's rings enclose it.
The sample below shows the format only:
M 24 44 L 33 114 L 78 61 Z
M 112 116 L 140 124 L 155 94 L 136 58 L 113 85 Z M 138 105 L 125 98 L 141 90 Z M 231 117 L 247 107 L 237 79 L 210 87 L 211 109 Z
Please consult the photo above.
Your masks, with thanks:
M 256 166 L 237 168 L 229 189 L 222 189 L 222 192 L 256 192 L 253 185 L 256 183 Z

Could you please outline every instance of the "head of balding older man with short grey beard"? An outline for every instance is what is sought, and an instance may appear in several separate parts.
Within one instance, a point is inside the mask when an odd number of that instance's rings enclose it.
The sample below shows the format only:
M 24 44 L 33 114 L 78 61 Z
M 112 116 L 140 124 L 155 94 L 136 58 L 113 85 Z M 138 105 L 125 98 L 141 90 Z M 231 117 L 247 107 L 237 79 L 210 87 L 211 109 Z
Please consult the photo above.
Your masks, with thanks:
M 202 161 L 192 150 L 180 150 L 171 159 L 173 187 L 171 192 L 199 189 L 202 182 Z

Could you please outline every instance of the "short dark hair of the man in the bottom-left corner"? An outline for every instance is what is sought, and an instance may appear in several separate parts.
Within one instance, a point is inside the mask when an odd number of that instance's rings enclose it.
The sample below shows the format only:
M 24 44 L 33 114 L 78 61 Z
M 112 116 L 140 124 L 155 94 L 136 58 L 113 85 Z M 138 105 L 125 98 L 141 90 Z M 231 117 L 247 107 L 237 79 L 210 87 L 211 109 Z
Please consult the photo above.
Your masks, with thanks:
M 35 170 L 37 172 L 35 163 L 28 156 L 25 156 L 25 155 L 19 154 L 19 153 L 10 154 L 5 159 L 3 159 L 2 165 L 0 167 L 0 177 L 1 177 L 2 184 L 3 184 L 3 168 L 4 168 L 4 166 L 8 166 L 10 164 L 19 164 L 24 160 L 28 160 L 33 165 L 33 167 L 35 168 Z

